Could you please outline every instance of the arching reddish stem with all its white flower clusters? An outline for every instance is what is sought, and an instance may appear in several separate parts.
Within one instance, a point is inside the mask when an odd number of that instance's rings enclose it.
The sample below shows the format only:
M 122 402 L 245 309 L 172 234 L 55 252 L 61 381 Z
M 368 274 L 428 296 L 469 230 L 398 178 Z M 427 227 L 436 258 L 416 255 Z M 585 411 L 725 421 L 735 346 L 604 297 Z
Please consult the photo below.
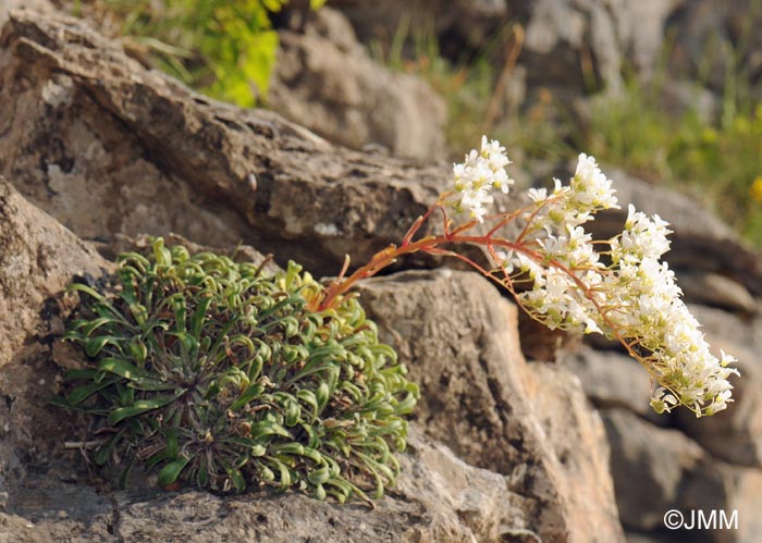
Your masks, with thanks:
M 492 192 L 507 194 L 513 185 L 507 164 L 505 149 L 482 137 L 481 148 L 454 165 L 453 189 L 416 220 L 402 245 L 381 250 L 349 276 L 345 263 L 311 308 L 319 312 L 334 307 L 357 281 L 403 255 L 450 255 L 506 288 L 529 316 L 549 328 L 617 340 L 651 375 L 651 405 L 657 412 L 685 406 L 700 417 L 725 409 L 732 402 L 728 378 L 738 375 L 729 367 L 736 359 L 725 353 L 717 359 L 710 353 L 674 273 L 660 260 L 669 248 L 667 223 L 630 206 L 620 234 L 593 240 L 583 224 L 598 211 L 618 206 L 611 180 L 586 155 L 579 156 L 567 186 L 554 180 L 551 192 L 530 189 L 527 206 L 488 214 Z M 432 214 L 442 217 L 442 234 L 416 239 Z M 518 225 L 517 235 L 511 235 L 511 225 Z M 490 262 L 482 266 L 445 245 L 481 246 Z

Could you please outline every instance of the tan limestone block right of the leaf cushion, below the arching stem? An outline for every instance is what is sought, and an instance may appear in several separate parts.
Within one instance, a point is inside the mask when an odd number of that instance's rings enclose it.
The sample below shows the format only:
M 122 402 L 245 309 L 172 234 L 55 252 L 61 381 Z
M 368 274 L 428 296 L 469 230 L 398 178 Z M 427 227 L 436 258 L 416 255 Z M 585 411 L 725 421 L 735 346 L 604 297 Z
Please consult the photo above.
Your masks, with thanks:
M 447 270 L 377 277 L 359 291 L 421 385 L 415 419 L 430 435 L 504 473 L 543 539 L 622 540 L 600 420 L 573 374 L 524 360 L 514 305 L 479 275 Z

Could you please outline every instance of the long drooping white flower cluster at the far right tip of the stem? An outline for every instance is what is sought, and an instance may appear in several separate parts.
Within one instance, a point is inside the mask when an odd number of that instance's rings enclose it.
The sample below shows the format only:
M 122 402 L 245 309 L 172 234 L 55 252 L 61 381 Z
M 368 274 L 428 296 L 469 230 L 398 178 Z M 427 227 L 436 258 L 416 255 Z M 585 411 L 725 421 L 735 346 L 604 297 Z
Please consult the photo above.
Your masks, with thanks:
M 625 230 L 611 239 L 612 270 L 604 284 L 615 293 L 609 312 L 612 324 L 648 355 L 642 361 L 661 384 L 651 406 L 657 412 L 685 405 L 697 415 L 713 415 L 727 407 L 728 382 L 738 370 L 736 359 L 714 357 L 675 284 L 675 274 L 660 257 L 669 249 L 667 223 L 629 207 Z M 611 301 L 609 303 L 611 304 Z

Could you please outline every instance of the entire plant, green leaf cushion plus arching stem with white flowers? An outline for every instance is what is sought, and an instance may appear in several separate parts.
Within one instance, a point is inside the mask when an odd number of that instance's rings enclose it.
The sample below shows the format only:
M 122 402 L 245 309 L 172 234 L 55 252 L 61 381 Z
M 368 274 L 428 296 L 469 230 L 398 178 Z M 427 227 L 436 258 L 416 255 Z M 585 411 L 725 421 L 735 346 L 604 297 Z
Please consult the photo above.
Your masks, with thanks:
M 378 343 L 352 287 L 417 251 L 468 262 L 551 329 L 620 342 L 649 372 L 657 412 L 725 409 L 736 360 L 710 353 L 660 260 L 669 247 L 667 223 L 630 206 L 620 234 L 593 240 L 582 225 L 618 206 L 611 180 L 586 155 L 568 185 L 554 180 L 550 192 L 530 189 L 528 206 L 488 214 L 491 192 L 513 185 L 504 151 L 483 137 L 480 150 L 455 164 L 453 189 L 401 245 L 348 276 L 347 258 L 327 287 L 293 263 L 263 277 L 254 264 L 189 256 L 161 239 L 152 256 L 121 257 L 113 293 L 72 285 L 89 314 L 66 336 L 97 367 L 70 371 L 69 381 L 84 384 L 59 403 L 98 417 L 95 460 L 127 462 L 125 473 L 139 461 L 158 467 L 162 486 L 190 481 L 241 491 L 250 480 L 344 502 L 353 493 L 367 498 L 358 484 L 374 480 L 380 496 L 398 472 L 393 451 L 404 447 L 407 430 L 401 417 L 418 390 Z M 417 238 L 434 214 L 442 233 Z M 519 233 L 502 235 L 515 232 L 507 229 L 514 223 Z M 491 264 L 452 249 L 458 245 L 483 247 Z

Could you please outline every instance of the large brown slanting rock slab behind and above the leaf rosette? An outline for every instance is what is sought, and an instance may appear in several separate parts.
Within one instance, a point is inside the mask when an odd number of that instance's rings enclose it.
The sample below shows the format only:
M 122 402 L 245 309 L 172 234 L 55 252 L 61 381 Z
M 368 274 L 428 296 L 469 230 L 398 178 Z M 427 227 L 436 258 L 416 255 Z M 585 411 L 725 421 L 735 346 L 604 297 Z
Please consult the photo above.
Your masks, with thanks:
M 12 15 L 0 82 L 0 174 L 87 239 L 172 230 L 335 273 L 398 240 L 447 178 L 212 102 L 62 15 Z

